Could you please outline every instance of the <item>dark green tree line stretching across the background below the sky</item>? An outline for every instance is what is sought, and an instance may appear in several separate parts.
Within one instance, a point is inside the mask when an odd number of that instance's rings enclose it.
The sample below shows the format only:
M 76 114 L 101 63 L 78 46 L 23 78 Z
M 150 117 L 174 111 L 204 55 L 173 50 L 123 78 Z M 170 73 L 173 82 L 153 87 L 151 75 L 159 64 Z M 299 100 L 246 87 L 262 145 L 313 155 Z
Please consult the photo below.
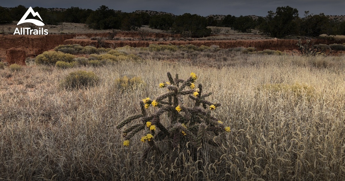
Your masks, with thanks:
M 0 7 L 0 24 L 19 21 L 28 8 L 19 5 L 14 8 Z M 345 21 L 336 22 L 325 14 L 309 14 L 305 11 L 300 18 L 298 10 L 289 6 L 278 7 L 276 12 L 268 11 L 266 17 L 253 19 L 250 16 L 225 16 L 218 20 L 213 17 L 202 17 L 185 13 L 179 16 L 159 14 L 150 16 L 146 12 L 127 13 L 114 11 L 107 6 L 96 10 L 71 7 L 65 11 L 49 11 L 47 8 L 34 7 L 45 24 L 58 25 L 62 22 L 85 23 L 89 28 L 105 30 L 138 30 L 143 25 L 150 28 L 180 33 L 186 37 L 207 37 L 211 34 L 209 26 L 230 27 L 239 32 L 251 32 L 256 29 L 260 34 L 282 38 L 286 36 L 317 37 L 320 34 L 345 35 Z M 34 18 L 30 14 L 28 18 Z

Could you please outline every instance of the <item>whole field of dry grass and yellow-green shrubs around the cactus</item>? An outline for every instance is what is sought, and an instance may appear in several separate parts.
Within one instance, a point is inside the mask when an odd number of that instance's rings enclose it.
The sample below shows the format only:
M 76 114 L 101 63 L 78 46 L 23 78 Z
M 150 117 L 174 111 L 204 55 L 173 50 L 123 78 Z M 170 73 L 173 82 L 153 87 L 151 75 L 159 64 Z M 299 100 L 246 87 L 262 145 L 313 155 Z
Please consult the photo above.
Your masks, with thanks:
M 0 69 L 1 179 L 345 179 L 344 56 L 217 46 L 55 50 L 37 56 L 36 66 Z M 159 96 L 175 90 L 167 72 L 179 74 L 194 99 L 199 83 L 201 96 L 212 92 L 206 100 L 215 109 L 204 102 L 198 110 L 208 117 L 198 119 L 217 122 L 201 121 L 196 131 L 183 117 L 171 124 L 176 117 L 163 114 L 168 137 L 161 140 L 155 121 L 156 130 L 140 119 L 117 129 L 142 106 L 156 115 L 164 104 Z M 189 118 L 186 108 L 196 104 L 183 97 L 170 111 Z M 144 130 L 124 142 L 136 124 Z M 217 129 L 202 131 L 211 124 Z M 190 139 L 194 133 L 215 144 Z

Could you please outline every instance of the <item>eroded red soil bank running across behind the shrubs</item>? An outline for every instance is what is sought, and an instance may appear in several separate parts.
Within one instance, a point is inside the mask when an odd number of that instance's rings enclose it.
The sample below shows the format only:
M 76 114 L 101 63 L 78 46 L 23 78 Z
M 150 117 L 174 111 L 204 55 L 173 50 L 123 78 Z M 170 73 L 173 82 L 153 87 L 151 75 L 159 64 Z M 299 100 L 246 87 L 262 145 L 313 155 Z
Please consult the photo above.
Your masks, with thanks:
M 99 47 L 97 40 L 90 39 L 73 39 L 76 36 L 91 37 L 106 37 L 107 33 L 88 33 L 88 34 L 56 34 L 56 35 L 42 35 L 42 36 L 28 36 L 28 35 L 6 35 L 0 36 L 0 59 L 6 59 L 6 50 L 10 48 L 23 48 L 26 56 L 36 56 L 43 51 L 53 49 L 59 44 L 80 44 L 81 46 L 93 45 Z M 139 38 L 137 32 L 119 32 L 117 37 L 134 37 Z M 171 35 L 164 33 L 149 33 L 149 38 L 179 38 L 179 35 Z M 315 39 L 315 44 L 332 44 L 345 43 L 345 40 L 335 41 L 326 39 Z M 293 50 L 298 49 L 296 46 L 297 40 L 211 40 L 211 41 L 128 41 L 128 40 L 105 40 L 103 44 L 106 47 L 148 47 L 149 44 L 193 44 L 195 46 L 211 46 L 217 45 L 219 48 L 235 48 L 235 47 L 255 47 L 257 50 L 272 49 L 272 50 Z

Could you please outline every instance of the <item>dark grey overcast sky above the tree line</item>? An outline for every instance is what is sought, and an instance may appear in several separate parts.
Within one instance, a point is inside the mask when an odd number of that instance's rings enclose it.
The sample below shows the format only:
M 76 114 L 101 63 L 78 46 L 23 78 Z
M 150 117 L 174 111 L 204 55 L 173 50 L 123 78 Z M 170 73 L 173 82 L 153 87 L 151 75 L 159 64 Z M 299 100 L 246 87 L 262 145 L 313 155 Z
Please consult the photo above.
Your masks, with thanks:
M 97 9 L 101 5 L 106 5 L 110 9 L 133 12 L 135 10 L 165 11 L 175 15 L 183 13 L 199 14 L 208 16 L 210 14 L 231 14 L 266 16 L 267 11 L 274 11 L 279 6 L 290 6 L 297 8 L 299 16 L 302 17 L 304 11 L 326 15 L 345 15 L 345 0 L 1 0 L 2 7 L 15 7 L 22 4 L 26 7 L 44 8 L 70 8 L 80 7 Z

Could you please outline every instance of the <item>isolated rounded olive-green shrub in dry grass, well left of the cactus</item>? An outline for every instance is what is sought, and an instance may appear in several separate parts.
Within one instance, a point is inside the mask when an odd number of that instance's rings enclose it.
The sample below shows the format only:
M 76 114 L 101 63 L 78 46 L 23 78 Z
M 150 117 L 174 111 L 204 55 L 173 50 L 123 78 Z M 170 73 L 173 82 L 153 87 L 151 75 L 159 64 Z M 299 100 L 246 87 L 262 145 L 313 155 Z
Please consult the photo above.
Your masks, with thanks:
M 80 89 L 97 85 L 99 78 L 92 71 L 78 70 L 69 73 L 61 80 L 60 86 L 65 89 Z

